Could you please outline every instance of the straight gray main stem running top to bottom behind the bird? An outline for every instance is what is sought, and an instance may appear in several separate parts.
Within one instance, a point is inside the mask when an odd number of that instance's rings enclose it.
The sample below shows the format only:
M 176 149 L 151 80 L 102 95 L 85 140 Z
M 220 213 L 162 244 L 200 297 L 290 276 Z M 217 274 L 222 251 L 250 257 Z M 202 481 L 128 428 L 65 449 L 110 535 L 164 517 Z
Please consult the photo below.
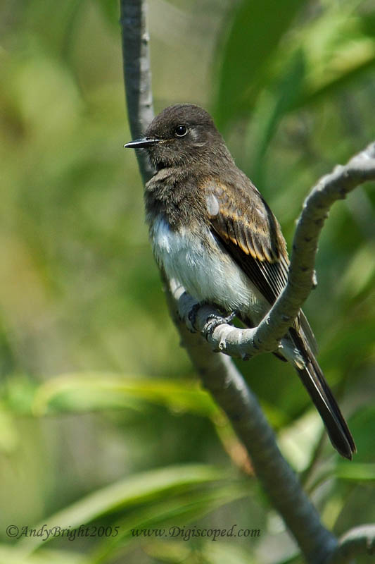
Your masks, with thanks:
M 146 1 L 120 0 L 120 11 L 127 110 L 132 137 L 134 138 L 144 132 L 153 118 L 150 57 L 146 29 Z M 137 158 L 141 176 L 146 180 L 151 176 L 151 168 L 142 152 L 138 152 Z M 314 255 L 314 252 L 312 254 Z M 298 256 L 295 259 L 292 258 L 292 261 L 293 264 L 297 264 Z M 303 267 L 305 267 L 305 256 L 303 257 Z M 176 298 L 180 298 L 184 290 L 177 288 L 173 281 L 167 281 L 163 272 L 161 274 L 170 314 L 182 337 L 182 344 L 186 348 L 196 371 L 201 376 L 203 386 L 210 391 L 229 417 L 236 434 L 251 457 L 257 477 L 269 500 L 283 517 L 307 562 L 311 564 L 326 563 L 338 547 L 337 540 L 331 532 L 323 527 L 317 510 L 305 495 L 295 473 L 281 455 L 274 432 L 262 414 L 257 398 L 246 385 L 243 376 L 236 369 L 231 358 L 214 353 L 211 345 L 199 333 L 189 331 L 186 323 L 177 314 L 178 303 Z M 308 290 L 305 290 L 306 296 L 310 291 L 311 279 L 309 278 Z M 298 284 L 299 280 L 300 278 L 297 276 L 295 283 Z M 189 302 L 186 315 L 183 316 L 188 317 L 187 312 L 191 310 L 192 298 L 184 294 L 181 299 L 182 302 L 184 300 Z M 298 312 L 300 307 L 298 303 L 293 305 L 295 307 L 293 312 Z M 205 313 L 204 308 L 201 308 L 198 312 L 198 324 L 201 323 L 199 321 L 201 315 L 205 319 L 205 323 L 207 322 Z M 288 322 L 283 319 L 283 322 L 286 323 L 285 327 L 290 324 L 290 319 L 293 319 L 294 314 L 287 310 L 287 315 Z M 267 321 L 265 323 L 267 329 Z M 259 330 L 261 327 L 262 324 L 260 324 Z M 233 328 L 230 329 L 233 330 Z M 260 332 L 260 338 L 264 340 L 265 336 L 262 331 L 264 329 Z M 269 350 L 272 350 L 273 344 L 277 343 L 276 334 L 282 335 L 282 331 L 281 333 L 279 331 L 281 329 L 278 329 L 272 335 L 272 339 L 267 337 L 267 348 Z M 220 341 L 217 343 L 217 348 L 219 348 L 219 344 Z

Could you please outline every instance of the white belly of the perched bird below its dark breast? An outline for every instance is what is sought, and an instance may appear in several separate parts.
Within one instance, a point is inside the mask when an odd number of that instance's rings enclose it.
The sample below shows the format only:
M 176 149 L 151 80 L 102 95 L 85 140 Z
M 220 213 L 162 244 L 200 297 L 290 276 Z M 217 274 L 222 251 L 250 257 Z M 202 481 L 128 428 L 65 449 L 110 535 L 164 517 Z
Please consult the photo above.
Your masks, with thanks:
M 267 302 L 212 233 L 207 230 L 205 235 L 209 246 L 186 228 L 172 231 L 164 219 L 158 219 L 151 228 L 153 252 L 167 276 L 176 278 L 196 300 L 248 312 L 253 319 L 262 317 L 269 309 Z

